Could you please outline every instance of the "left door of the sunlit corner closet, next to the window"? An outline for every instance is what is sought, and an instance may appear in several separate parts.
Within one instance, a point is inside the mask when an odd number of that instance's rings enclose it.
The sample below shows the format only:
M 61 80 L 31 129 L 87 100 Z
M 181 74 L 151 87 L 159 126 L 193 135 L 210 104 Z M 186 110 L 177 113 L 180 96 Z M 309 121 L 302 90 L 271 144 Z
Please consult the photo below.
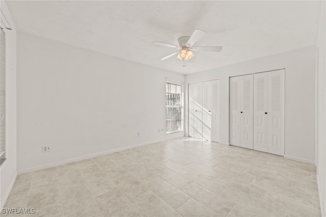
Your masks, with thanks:
M 203 138 L 202 82 L 189 84 L 188 134 L 193 138 Z

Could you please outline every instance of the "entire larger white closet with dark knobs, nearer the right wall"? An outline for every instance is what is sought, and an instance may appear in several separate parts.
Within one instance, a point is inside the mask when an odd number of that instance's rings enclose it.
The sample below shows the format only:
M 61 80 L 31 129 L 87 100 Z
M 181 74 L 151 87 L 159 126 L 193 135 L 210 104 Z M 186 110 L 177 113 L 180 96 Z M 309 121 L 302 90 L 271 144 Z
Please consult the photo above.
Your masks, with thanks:
M 284 76 L 230 77 L 230 145 L 284 155 Z

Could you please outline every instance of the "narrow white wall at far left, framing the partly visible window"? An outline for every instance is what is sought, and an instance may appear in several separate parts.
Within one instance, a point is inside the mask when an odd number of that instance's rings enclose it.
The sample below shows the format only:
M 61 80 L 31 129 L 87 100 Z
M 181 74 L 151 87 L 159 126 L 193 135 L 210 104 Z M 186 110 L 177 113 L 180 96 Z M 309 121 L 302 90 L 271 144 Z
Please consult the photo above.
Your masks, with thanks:
M 16 29 L 5 2 L 1 10 L 12 30 L 6 31 L 6 157 L 0 167 L 0 206 L 5 204 L 16 178 Z

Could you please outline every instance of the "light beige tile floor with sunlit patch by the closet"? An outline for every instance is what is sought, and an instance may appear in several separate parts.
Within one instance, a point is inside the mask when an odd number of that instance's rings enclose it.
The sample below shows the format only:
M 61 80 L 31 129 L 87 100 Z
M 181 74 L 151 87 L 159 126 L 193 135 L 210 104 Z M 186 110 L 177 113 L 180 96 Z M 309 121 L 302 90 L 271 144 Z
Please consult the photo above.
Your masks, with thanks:
M 19 175 L 5 208 L 36 209 L 25 216 L 320 216 L 315 166 L 186 139 Z

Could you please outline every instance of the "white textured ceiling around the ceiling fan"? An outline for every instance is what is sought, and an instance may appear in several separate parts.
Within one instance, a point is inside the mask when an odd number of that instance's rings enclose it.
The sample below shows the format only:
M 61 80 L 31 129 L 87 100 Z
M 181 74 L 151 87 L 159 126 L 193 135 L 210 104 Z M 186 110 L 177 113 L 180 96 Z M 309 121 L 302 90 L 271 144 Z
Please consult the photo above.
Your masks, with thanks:
M 321 2 L 314 1 L 6 1 L 18 31 L 133 62 L 189 74 L 316 42 Z M 181 36 L 206 31 L 197 61 L 158 59 Z

